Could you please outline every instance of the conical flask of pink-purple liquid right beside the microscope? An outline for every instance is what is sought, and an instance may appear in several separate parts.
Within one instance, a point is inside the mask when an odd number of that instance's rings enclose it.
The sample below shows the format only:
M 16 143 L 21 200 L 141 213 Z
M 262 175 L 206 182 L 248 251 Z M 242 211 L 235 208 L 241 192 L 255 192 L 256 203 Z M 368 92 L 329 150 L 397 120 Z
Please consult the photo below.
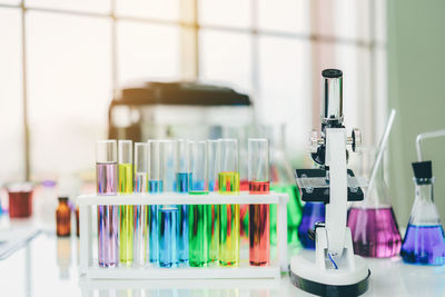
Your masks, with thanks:
M 364 257 L 389 258 L 400 251 L 402 237 L 383 168 L 382 165 L 374 186 L 366 189 L 365 200 L 349 209 L 347 226 L 353 236 L 354 253 Z

